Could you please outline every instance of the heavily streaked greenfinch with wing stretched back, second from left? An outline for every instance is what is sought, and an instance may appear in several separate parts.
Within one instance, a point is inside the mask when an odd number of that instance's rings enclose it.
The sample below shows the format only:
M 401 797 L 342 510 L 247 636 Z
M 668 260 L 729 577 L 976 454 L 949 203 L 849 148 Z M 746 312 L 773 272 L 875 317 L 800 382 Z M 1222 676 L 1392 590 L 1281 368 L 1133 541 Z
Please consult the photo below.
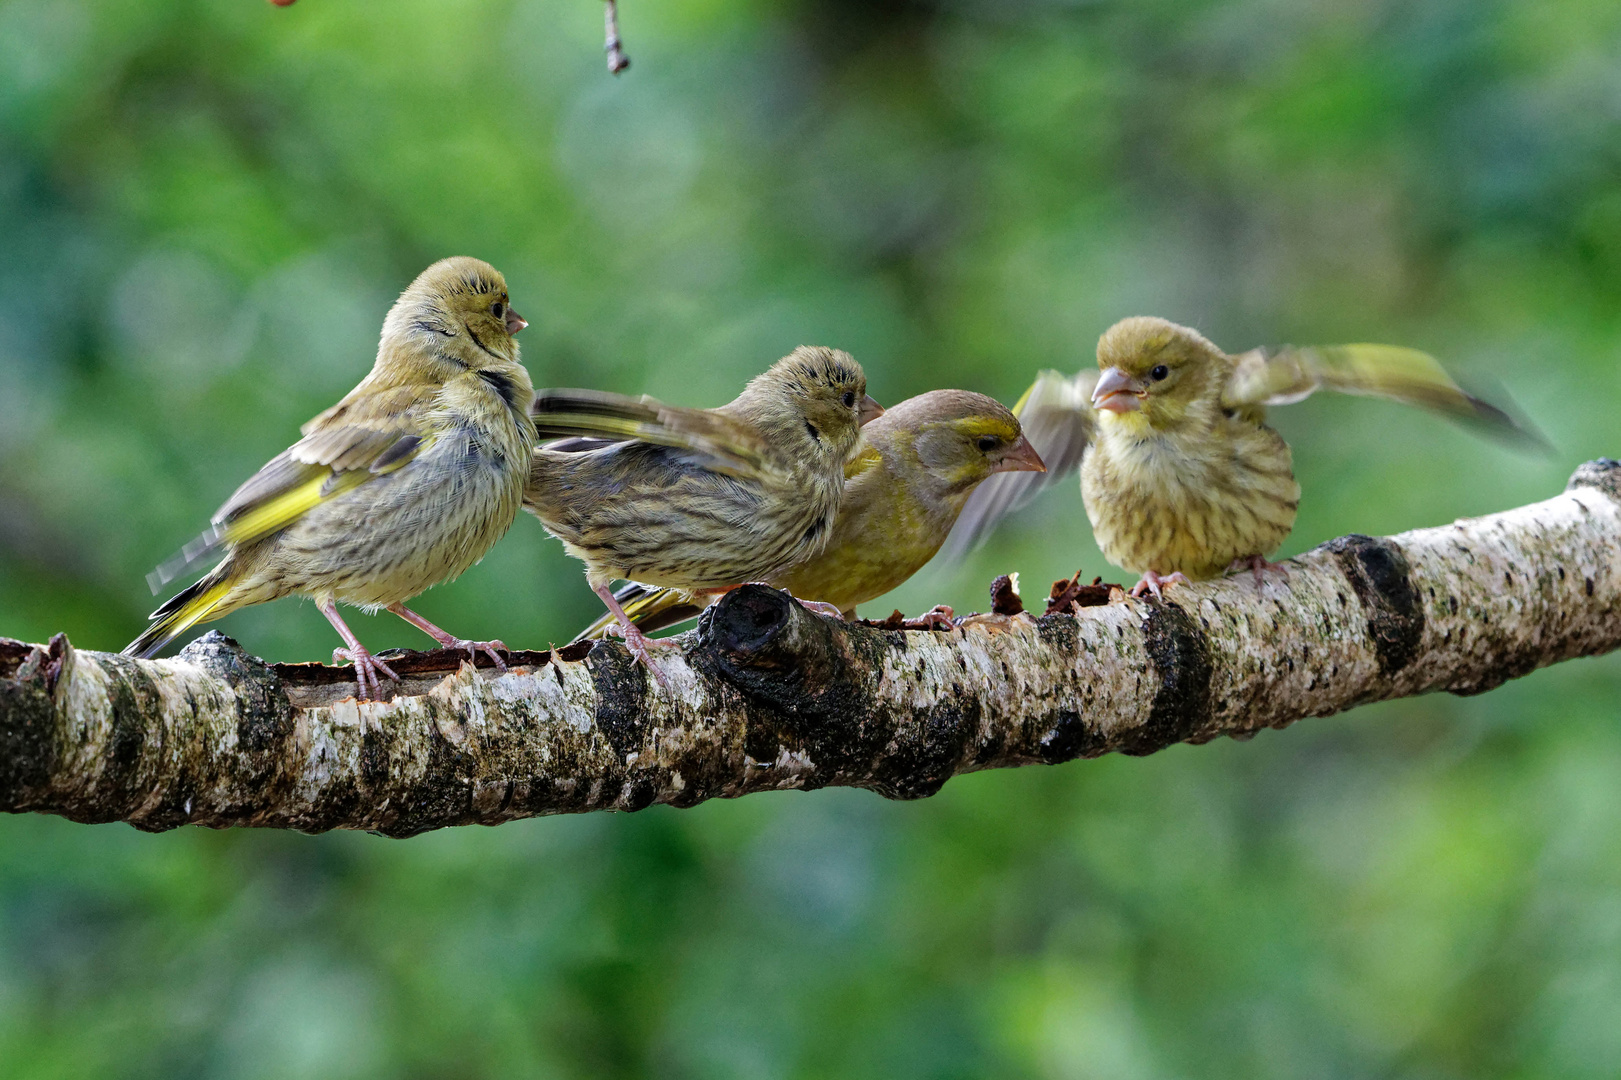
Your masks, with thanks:
M 614 579 L 705 595 L 767 581 L 827 545 L 861 425 L 883 409 L 849 354 L 801 345 L 720 409 L 541 391 L 524 508 L 569 555 L 642 663 Z M 657 668 L 653 668 L 657 671 Z

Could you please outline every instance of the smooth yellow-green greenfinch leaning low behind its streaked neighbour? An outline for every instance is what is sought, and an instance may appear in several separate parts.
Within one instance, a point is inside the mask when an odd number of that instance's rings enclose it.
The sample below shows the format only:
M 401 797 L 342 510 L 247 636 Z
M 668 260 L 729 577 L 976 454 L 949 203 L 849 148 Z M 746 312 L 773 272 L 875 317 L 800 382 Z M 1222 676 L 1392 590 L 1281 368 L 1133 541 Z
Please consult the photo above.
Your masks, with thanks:
M 929 391 L 892 405 L 861 430 L 866 446 L 845 465 L 845 495 L 827 548 L 767 579 L 846 619 L 940 550 L 968 496 L 999 472 L 1044 469 L 1007 405 L 969 391 Z M 642 631 L 674 626 L 702 610 L 678 589 L 632 582 L 614 594 Z M 603 618 L 580 637 L 601 637 Z

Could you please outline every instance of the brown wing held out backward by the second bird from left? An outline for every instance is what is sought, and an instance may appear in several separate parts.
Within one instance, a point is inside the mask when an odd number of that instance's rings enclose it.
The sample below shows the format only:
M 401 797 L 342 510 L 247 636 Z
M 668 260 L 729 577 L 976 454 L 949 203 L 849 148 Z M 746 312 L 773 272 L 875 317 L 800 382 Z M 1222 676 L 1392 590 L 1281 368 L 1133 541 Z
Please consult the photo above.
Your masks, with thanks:
M 535 394 L 532 415 L 540 438 L 569 439 L 567 449 L 588 449 L 577 439 L 652 443 L 691 451 L 726 474 L 760 472 L 772 462 L 765 439 L 747 422 L 710 409 L 678 409 L 653 397 L 543 389 Z

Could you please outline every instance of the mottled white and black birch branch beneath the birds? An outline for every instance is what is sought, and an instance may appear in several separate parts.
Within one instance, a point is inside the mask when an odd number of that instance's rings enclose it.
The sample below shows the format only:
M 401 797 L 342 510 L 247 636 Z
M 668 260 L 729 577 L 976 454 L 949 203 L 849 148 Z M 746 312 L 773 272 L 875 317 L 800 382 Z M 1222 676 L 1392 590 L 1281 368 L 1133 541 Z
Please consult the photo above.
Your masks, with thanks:
M 220 634 L 173 660 L 0 641 L 0 809 L 408 837 L 768 788 L 921 798 L 976 769 L 1477 694 L 1621 645 L 1621 464 L 1535 506 L 1334 540 L 1260 589 L 905 631 L 746 587 L 679 641 L 668 692 L 598 642 L 514 654 L 503 676 L 408 654 L 378 704 L 344 668 L 267 665 Z

